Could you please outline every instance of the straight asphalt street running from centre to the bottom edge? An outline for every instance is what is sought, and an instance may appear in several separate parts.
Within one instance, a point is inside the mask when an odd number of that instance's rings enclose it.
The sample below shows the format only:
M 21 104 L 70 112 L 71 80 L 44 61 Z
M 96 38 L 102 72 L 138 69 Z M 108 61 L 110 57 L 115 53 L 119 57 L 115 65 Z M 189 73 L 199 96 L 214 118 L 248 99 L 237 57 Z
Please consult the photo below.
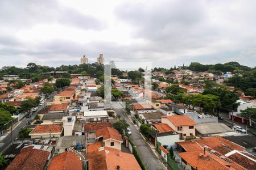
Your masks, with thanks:
M 115 113 L 120 115 L 120 120 L 125 118 L 126 122 L 130 125 L 131 129 L 131 139 L 133 140 L 134 145 L 137 148 L 138 154 L 141 156 L 142 162 L 147 169 L 156 170 L 156 169 L 166 169 L 156 155 L 152 152 L 151 148 L 148 147 L 147 143 L 142 138 L 141 134 L 138 133 L 137 129 L 123 112 L 122 109 L 114 109 Z

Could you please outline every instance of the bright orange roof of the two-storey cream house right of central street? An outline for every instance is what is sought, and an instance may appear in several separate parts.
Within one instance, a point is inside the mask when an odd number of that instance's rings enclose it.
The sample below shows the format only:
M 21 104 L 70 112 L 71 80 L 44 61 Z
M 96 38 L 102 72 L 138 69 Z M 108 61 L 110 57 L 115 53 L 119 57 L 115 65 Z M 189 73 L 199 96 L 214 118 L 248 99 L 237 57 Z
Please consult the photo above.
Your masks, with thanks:
M 191 126 L 191 125 L 197 125 L 195 121 L 193 121 L 188 116 L 162 116 L 167 118 L 174 126 Z

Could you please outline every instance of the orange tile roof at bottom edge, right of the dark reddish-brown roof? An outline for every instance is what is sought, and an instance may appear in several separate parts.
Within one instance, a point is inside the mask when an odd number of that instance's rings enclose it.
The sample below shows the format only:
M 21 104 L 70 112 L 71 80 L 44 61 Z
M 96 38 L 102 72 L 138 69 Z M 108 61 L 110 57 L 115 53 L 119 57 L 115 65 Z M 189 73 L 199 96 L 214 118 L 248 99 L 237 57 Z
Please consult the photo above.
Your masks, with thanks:
M 75 152 L 66 151 L 52 158 L 48 170 L 79 170 L 82 169 L 82 162 Z

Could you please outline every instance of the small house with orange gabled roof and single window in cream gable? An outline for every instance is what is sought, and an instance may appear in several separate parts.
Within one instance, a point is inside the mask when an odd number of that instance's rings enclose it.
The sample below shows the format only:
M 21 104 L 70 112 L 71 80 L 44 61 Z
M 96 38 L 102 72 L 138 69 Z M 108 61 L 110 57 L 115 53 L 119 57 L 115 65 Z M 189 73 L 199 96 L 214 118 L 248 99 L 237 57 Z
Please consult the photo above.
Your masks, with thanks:
M 103 141 L 104 146 L 121 150 L 123 139 L 118 131 L 114 128 L 104 127 L 95 131 L 96 139 Z

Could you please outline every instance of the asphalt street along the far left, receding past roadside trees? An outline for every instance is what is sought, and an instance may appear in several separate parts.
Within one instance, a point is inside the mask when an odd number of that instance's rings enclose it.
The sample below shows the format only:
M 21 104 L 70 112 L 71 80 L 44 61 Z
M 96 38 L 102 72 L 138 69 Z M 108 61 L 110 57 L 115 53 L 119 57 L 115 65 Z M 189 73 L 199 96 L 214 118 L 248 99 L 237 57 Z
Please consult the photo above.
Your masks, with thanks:
M 49 99 L 46 100 L 46 102 L 52 100 L 52 97 L 56 95 L 56 92 L 53 92 L 51 94 L 51 97 Z M 21 128 L 23 128 L 25 125 L 27 125 L 27 122 L 30 121 L 30 120 L 34 120 L 35 116 L 36 116 L 36 113 L 38 113 L 41 109 L 44 108 L 44 105 L 39 105 L 38 106 L 38 110 L 36 112 L 32 112 L 32 117 L 31 118 L 26 118 L 24 117 L 20 124 L 18 126 L 16 126 L 15 129 L 13 129 L 13 139 L 15 139 L 16 137 L 18 137 L 18 134 L 19 134 L 19 130 Z M 11 133 L 9 133 L 5 139 L 3 139 L 0 143 L 0 153 L 1 152 L 5 152 L 10 146 L 11 146 Z

